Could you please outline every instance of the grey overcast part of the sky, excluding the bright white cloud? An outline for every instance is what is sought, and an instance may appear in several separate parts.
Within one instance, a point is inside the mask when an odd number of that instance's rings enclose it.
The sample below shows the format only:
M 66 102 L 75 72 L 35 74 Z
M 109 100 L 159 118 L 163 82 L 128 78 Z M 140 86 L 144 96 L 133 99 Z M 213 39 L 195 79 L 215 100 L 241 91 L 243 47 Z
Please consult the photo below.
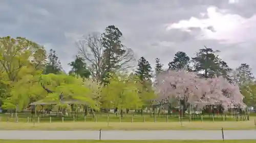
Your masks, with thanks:
M 251 60 L 256 60 L 246 51 L 239 52 L 254 43 L 230 46 L 217 40 L 198 41 L 195 39 L 200 32 L 198 28 L 190 29 L 190 33 L 166 31 L 166 24 L 192 16 L 202 18 L 200 13 L 205 13 L 209 6 L 224 9 L 227 13 L 251 16 L 256 13 L 255 4 L 251 0 L 232 5 L 228 4 L 228 0 L 0 1 L 0 35 L 24 36 L 40 44 L 51 44 L 47 48 L 56 50 L 66 70 L 77 50 L 74 40 L 65 33 L 82 35 L 103 32 L 108 25 L 116 25 L 122 31 L 124 44 L 134 50 L 137 58 L 144 56 L 152 64 L 159 57 L 167 66 L 176 52 L 184 51 L 193 56 L 206 44 L 222 51 L 223 58 L 230 66 L 236 67 L 240 61 L 251 63 Z M 233 58 L 237 55 L 239 60 Z

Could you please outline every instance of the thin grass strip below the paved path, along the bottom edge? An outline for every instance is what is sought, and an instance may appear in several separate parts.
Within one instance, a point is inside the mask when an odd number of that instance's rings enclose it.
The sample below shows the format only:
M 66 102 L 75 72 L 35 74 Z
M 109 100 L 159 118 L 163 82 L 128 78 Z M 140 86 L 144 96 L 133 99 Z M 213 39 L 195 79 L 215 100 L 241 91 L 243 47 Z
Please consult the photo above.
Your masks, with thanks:
M 254 143 L 256 140 L 0 140 L 1 143 Z

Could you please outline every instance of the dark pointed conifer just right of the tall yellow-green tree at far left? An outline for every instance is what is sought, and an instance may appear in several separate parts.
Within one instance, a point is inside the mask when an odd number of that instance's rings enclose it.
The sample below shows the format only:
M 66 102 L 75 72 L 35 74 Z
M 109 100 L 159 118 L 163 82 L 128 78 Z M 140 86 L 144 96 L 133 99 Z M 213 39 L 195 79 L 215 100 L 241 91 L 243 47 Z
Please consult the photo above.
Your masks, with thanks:
M 57 53 L 54 50 L 50 50 L 50 53 L 47 57 L 45 74 L 59 74 L 62 70 L 61 63 L 57 56 Z

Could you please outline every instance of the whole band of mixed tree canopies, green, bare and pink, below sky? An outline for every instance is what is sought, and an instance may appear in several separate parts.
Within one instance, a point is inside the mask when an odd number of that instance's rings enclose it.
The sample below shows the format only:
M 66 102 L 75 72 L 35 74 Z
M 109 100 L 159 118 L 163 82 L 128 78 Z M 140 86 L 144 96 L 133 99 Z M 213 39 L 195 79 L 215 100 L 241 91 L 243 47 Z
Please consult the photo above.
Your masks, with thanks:
M 194 57 L 179 51 L 166 61 L 140 57 L 123 42 L 121 30 L 110 25 L 101 34 L 76 41 L 77 54 L 65 73 L 55 50 L 23 37 L 0 37 L 0 107 L 23 110 L 36 101 L 87 105 L 94 110 L 143 110 L 154 101 L 221 105 L 227 109 L 255 106 L 255 81 L 249 64 L 231 69 L 213 48 Z M 172 53 L 170 53 L 172 54 Z M 165 70 L 166 69 L 166 70 Z M 84 107 L 85 108 L 85 107 Z M 93 111 L 94 111 L 93 110 Z

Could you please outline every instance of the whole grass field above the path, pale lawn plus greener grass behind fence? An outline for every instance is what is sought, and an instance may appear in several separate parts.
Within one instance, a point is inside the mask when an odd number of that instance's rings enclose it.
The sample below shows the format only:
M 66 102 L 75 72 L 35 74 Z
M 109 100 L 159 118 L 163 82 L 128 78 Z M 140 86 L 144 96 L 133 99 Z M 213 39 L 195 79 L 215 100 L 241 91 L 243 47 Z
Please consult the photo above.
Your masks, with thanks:
M 78 114 L 74 120 L 72 117 L 62 118 L 58 116 L 39 116 L 31 118 L 28 114 L 18 114 L 18 123 L 15 117 L 10 114 L 1 114 L 0 130 L 251 130 L 256 129 L 254 120 L 256 116 L 250 116 L 247 121 L 244 116 L 236 121 L 233 115 L 224 116 L 203 115 L 189 117 L 185 116 L 180 122 L 178 115 L 165 117 L 151 117 L 148 114 L 126 114 L 124 117 L 110 114 L 96 114 L 96 117 Z M 32 121 L 31 121 L 32 119 Z M 86 120 L 84 122 L 84 119 Z M 223 121 L 224 120 L 224 121 Z M 109 122 L 108 122 L 109 121 Z M 182 126 L 181 126 L 182 123 Z

